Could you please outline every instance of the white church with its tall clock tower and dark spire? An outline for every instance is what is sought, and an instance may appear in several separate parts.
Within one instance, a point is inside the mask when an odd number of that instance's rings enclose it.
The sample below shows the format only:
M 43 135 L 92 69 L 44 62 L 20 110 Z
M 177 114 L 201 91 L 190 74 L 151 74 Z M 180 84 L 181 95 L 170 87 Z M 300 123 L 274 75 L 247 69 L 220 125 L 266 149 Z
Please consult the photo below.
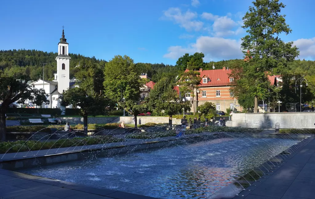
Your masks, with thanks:
M 70 59 L 69 44 L 65 38 L 64 30 L 62 30 L 62 36 L 58 43 L 58 55 L 56 57 L 57 73 L 54 74 L 54 80 L 40 79 L 30 83 L 30 86 L 33 85 L 37 89 L 44 89 L 45 93 L 48 95 L 47 99 L 49 103 L 43 103 L 42 106 L 38 107 L 60 108 L 60 97 L 62 93 L 69 88 L 77 87 L 77 85 L 75 85 L 76 79 L 70 79 Z M 37 108 L 37 106 L 33 105 L 29 100 L 26 100 L 25 105 Z

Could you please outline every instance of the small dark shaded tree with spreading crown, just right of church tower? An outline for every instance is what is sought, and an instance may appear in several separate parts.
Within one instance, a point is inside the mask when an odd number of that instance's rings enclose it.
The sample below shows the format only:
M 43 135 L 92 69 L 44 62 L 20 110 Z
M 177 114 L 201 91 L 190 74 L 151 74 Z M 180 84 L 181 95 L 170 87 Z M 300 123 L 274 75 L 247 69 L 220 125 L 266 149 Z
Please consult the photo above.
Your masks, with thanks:
M 75 87 L 66 90 L 61 97 L 63 106 L 73 105 L 78 110 L 78 114 L 83 117 L 84 133 L 88 133 L 88 116 L 104 115 L 107 112 L 106 107 L 109 100 L 101 93 L 91 93 L 82 87 Z M 79 108 L 78 108 L 79 107 Z

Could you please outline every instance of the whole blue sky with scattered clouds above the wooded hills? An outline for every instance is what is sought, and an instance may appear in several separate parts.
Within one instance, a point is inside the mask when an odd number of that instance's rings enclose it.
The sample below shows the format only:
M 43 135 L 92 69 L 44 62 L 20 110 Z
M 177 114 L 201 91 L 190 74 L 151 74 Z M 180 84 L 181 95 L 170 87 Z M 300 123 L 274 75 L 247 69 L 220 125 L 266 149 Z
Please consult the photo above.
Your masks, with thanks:
M 184 53 L 203 52 L 205 61 L 242 58 L 240 28 L 251 0 L 3 1 L 0 49 L 56 52 L 62 27 L 69 52 L 109 60 L 175 64 Z M 299 58 L 315 59 L 312 0 L 285 0 Z

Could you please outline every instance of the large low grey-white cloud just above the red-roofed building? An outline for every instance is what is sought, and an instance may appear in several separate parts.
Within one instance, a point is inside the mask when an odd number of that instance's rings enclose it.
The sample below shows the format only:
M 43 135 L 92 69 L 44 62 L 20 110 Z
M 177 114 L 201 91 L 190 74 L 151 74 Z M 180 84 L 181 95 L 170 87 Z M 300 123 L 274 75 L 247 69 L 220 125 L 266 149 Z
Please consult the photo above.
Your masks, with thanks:
M 222 60 L 242 58 L 243 53 L 240 50 L 241 41 L 234 39 L 225 39 L 222 37 L 201 36 L 196 43 L 188 47 L 171 46 L 164 58 L 178 59 L 185 53 L 202 52 L 205 54 L 205 60 Z

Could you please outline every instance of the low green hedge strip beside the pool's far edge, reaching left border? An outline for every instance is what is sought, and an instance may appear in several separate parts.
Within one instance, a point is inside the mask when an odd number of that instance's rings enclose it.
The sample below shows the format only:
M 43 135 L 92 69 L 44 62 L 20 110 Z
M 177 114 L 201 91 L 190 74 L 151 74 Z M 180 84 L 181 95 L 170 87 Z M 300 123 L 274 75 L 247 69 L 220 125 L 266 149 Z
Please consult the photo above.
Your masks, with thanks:
M 123 139 L 115 138 L 111 135 L 99 135 L 95 137 L 60 139 L 58 141 L 38 142 L 38 141 L 15 141 L 0 142 L 0 153 L 35 151 L 39 149 L 50 149 L 70 146 L 83 146 L 92 144 L 104 144 L 110 142 L 121 142 Z M 9 150 L 9 151 L 8 151 Z

